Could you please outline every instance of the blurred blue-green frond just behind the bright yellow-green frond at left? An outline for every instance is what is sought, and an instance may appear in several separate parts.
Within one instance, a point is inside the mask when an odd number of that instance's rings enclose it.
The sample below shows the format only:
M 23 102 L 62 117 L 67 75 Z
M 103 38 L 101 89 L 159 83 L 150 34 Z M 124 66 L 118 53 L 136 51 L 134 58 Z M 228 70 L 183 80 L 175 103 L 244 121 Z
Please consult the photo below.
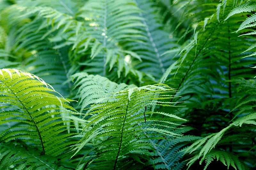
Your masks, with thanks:
M 48 40 L 40 40 L 39 38 L 30 40 L 29 44 L 24 47 L 27 37 L 39 37 L 44 36 L 47 29 L 37 28 L 40 26 L 41 20 L 32 21 L 24 26 L 23 30 L 18 32 L 18 38 L 16 43 L 20 44 L 22 48 L 33 47 L 33 49 L 27 49 L 30 52 L 30 56 L 24 61 L 23 70 L 29 71 L 37 76 L 43 78 L 47 83 L 50 83 L 58 92 L 65 94 L 71 85 L 63 85 L 63 82 L 68 78 L 68 57 L 65 55 L 66 48 L 52 49 L 51 43 Z M 34 29 L 31 29 L 31 27 Z M 49 38 L 51 35 L 49 36 Z M 33 44 L 33 45 L 31 45 Z M 52 43 L 54 45 L 54 43 Z

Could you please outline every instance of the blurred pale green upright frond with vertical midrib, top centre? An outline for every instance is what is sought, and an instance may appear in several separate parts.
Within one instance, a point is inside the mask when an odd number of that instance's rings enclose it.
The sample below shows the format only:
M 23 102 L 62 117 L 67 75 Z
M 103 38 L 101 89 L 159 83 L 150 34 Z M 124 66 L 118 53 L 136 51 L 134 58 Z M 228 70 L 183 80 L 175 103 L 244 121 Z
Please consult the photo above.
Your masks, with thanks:
M 78 49 L 78 53 L 84 51 L 86 44 L 89 44 L 91 48 L 89 51 L 91 60 L 82 62 L 87 67 L 84 71 L 105 76 L 106 71 L 112 70 L 115 66 L 118 77 L 124 69 L 126 72 L 134 72 L 131 68 L 126 67 L 129 62 L 125 61 L 125 56 L 129 55 L 139 60 L 140 57 L 136 53 L 122 48 L 122 43 L 131 41 L 131 37 L 143 37 L 137 29 L 137 27 L 143 26 L 140 17 L 135 15 L 139 11 L 130 0 L 88 1 L 80 9 L 78 18 L 85 20 L 85 24 L 88 26 L 86 32 L 90 35 L 78 34 L 78 37 L 83 37 L 79 38 L 80 43 L 75 48 Z M 79 60 L 79 55 L 77 57 Z

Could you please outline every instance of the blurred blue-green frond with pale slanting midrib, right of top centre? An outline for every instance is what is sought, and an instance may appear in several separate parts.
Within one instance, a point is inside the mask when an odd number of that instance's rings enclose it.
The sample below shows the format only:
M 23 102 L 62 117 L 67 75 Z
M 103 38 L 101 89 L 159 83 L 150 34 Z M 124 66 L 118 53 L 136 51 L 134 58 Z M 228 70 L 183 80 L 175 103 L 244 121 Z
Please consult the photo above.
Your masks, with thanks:
M 158 9 L 153 2 L 144 0 L 136 1 L 136 3 L 143 10 L 139 13 L 143 26 L 138 29 L 145 39 L 129 42 L 125 44 L 125 47 L 136 52 L 142 59 L 141 63 L 136 63 L 136 69 L 158 78 L 173 63 L 175 51 L 164 52 L 172 48 L 177 49 L 179 45 L 175 43 L 175 39 L 169 38 L 168 33 L 161 30 L 163 18 L 156 15 Z

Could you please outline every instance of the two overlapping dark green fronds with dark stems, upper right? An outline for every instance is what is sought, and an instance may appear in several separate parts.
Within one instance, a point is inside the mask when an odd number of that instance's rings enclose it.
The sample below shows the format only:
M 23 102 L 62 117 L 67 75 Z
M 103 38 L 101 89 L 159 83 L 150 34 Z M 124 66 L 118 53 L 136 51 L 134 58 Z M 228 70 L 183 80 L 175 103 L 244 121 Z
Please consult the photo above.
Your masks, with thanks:
M 217 18 L 216 13 L 207 25 L 203 24 L 201 28 L 197 26 L 198 32 L 195 32 L 191 40 L 184 45 L 177 66 L 170 70 L 171 75 L 166 83 L 180 92 L 186 92 L 187 94 L 183 95 L 181 93 L 182 96 L 188 95 L 185 100 L 189 99 L 191 94 L 201 95 L 202 92 L 213 98 L 232 96 L 232 85 L 224 81 L 237 77 L 251 77 L 248 65 L 255 59 L 244 60 L 240 54 L 248 48 L 246 44 L 251 44 L 251 40 L 237 37 L 237 34 L 232 33 L 245 18 L 240 15 L 224 21 L 225 14 L 228 15 L 232 10 L 233 3 L 225 5 L 225 11 L 222 10 L 223 16 Z M 211 91 L 214 91 L 214 94 Z

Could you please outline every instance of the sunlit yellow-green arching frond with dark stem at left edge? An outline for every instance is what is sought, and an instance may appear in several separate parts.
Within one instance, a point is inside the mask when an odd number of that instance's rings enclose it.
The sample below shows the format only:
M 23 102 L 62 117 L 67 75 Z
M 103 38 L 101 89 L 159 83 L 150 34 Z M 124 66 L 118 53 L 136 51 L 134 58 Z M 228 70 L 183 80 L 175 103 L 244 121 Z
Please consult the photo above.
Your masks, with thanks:
M 15 69 L 0 70 L 1 142 L 20 139 L 42 154 L 60 155 L 74 141 L 79 121 L 51 85 L 37 76 Z M 55 96 L 55 93 L 57 96 Z M 58 97 L 59 96 L 59 97 Z

